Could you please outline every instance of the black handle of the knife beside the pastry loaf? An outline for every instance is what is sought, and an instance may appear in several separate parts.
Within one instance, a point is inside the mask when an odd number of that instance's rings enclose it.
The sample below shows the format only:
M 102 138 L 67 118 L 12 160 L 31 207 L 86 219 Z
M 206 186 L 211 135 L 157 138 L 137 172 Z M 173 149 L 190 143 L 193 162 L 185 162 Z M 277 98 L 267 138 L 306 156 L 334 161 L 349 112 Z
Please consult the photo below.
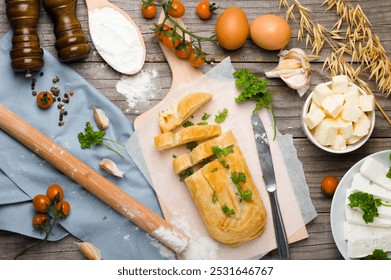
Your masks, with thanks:
M 277 192 L 269 192 L 269 196 L 273 213 L 273 224 L 276 233 L 278 253 L 280 255 L 280 259 L 287 260 L 289 259 L 289 245 L 284 223 L 282 221 L 280 207 L 278 206 Z

